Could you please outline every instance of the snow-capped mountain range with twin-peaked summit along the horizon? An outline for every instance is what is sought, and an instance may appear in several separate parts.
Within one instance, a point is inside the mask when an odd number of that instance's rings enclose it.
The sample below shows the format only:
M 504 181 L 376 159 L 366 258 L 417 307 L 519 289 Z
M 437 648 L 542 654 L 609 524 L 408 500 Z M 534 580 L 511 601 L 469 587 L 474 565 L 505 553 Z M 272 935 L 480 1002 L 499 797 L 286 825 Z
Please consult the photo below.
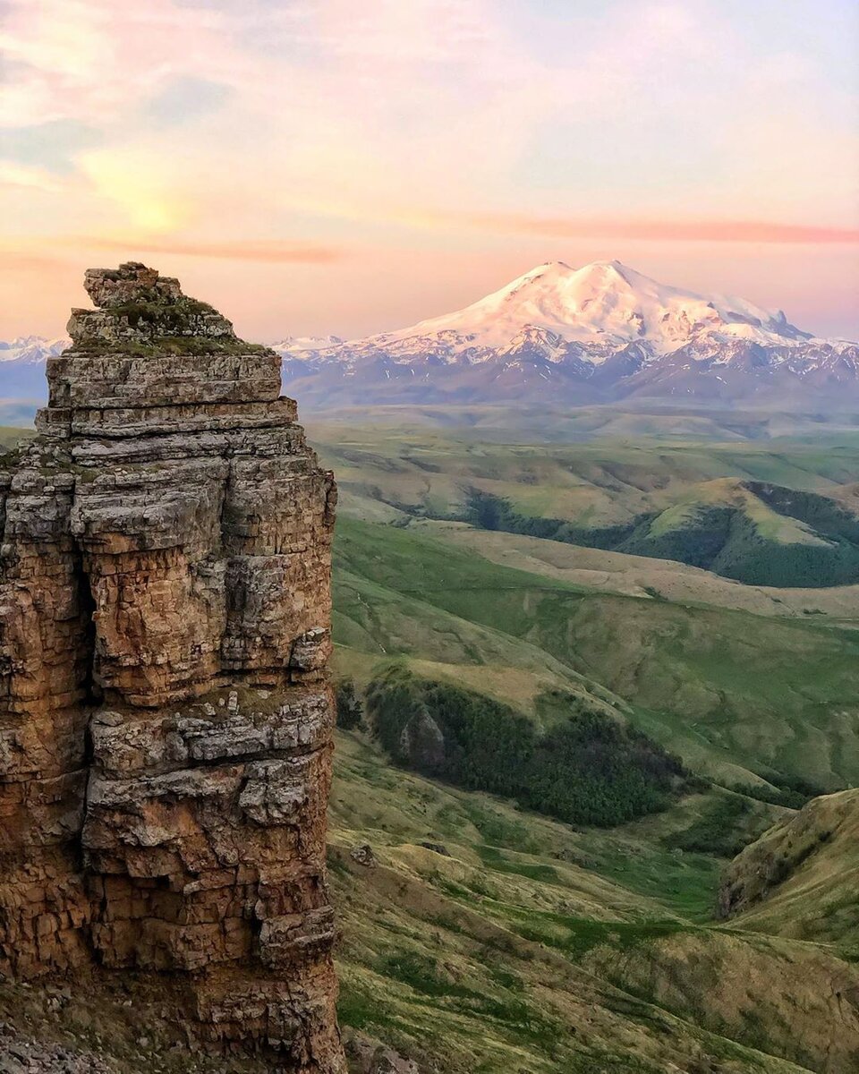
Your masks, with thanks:
M 0 343 L 0 406 L 44 397 L 64 339 Z M 742 299 L 659 284 L 620 261 L 538 265 L 454 314 L 363 339 L 288 336 L 305 406 L 576 405 L 661 400 L 790 409 L 859 404 L 859 344 L 821 339 Z

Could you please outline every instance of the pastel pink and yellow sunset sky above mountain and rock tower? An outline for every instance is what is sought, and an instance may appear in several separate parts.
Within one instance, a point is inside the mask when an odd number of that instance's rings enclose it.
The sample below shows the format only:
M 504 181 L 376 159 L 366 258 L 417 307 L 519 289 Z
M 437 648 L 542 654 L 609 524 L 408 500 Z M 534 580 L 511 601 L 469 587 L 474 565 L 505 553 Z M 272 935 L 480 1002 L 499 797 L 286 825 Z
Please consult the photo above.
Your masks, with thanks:
M 245 336 L 542 261 L 859 338 L 855 0 L 0 0 L 0 338 L 144 260 Z

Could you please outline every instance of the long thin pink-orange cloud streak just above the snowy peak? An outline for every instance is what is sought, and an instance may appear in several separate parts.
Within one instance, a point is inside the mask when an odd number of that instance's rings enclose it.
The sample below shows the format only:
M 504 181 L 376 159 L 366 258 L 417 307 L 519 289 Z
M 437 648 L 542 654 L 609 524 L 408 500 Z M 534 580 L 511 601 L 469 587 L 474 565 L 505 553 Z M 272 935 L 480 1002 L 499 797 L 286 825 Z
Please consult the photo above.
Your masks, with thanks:
M 859 243 L 859 228 L 829 228 L 766 220 L 624 220 L 541 218 L 514 213 L 455 216 L 451 222 L 491 231 L 563 238 L 626 238 L 701 243 Z

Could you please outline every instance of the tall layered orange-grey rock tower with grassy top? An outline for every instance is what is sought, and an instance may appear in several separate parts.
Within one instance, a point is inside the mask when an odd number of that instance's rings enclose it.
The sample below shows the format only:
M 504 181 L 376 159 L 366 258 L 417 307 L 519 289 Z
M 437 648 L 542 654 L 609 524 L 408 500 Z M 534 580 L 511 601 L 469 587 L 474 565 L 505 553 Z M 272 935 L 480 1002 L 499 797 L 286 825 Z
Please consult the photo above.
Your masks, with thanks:
M 334 481 L 277 354 L 144 265 L 86 288 L 0 466 L 0 973 L 163 973 L 199 1034 L 338 1072 Z

